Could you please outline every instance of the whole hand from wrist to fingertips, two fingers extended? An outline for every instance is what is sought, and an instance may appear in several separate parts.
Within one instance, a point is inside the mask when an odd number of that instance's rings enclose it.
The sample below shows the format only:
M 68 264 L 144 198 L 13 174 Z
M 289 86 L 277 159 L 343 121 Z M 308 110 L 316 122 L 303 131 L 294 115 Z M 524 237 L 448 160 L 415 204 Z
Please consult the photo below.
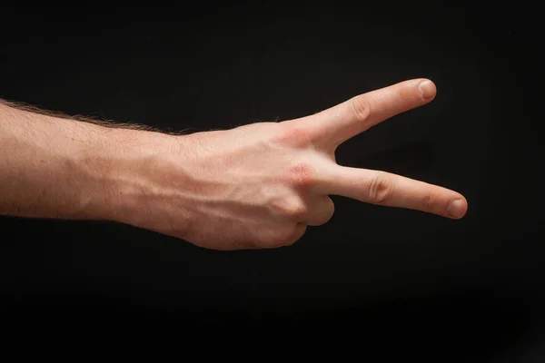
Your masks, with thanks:
M 182 136 L 183 163 L 165 165 L 157 174 L 163 197 L 147 201 L 147 210 L 163 214 L 136 224 L 205 248 L 239 250 L 300 240 L 307 226 L 332 218 L 329 195 L 461 218 L 467 201 L 458 192 L 335 162 L 342 142 L 435 94 L 431 81 L 415 79 L 308 117 Z

